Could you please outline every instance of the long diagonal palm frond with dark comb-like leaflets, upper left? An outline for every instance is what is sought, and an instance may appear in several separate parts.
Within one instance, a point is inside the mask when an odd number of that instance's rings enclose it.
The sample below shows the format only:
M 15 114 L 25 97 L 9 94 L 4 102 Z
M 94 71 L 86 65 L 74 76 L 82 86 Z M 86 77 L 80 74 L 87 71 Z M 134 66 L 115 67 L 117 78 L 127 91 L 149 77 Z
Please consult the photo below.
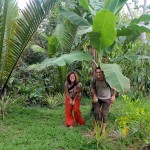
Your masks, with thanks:
M 34 32 L 53 7 L 56 0 L 30 0 L 27 7 L 21 10 L 21 15 L 16 19 L 11 28 L 11 38 L 7 40 L 7 53 L 2 60 L 1 72 L 6 72 L 2 91 L 4 90 L 12 71 L 14 70 L 21 54 L 27 46 Z

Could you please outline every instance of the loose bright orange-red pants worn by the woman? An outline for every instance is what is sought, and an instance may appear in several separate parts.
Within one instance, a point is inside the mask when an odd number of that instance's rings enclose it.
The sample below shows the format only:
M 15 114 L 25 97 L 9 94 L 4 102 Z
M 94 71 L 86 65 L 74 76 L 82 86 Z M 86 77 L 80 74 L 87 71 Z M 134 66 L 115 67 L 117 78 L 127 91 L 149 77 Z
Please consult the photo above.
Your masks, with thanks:
M 81 117 L 80 112 L 80 101 L 81 99 L 76 99 L 75 104 L 71 105 L 70 99 L 66 96 L 65 100 L 65 117 L 66 117 L 66 126 L 74 126 L 74 120 L 79 125 L 84 125 L 85 122 Z M 73 117 L 74 111 L 74 117 Z

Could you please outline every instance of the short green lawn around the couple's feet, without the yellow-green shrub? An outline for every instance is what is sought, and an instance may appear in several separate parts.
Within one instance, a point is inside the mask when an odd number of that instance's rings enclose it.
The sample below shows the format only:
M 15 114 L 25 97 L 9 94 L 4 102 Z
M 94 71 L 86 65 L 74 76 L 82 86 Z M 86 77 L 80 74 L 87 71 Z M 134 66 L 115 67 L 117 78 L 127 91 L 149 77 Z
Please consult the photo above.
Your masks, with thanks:
M 150 108 L 149 101 L 143 107 L 147 108 L 147 106 Z M 121 107 L 123 107 L 123 101 L 117 100 L 111 107 L 109 114 L 107 131 L 108 134 L 115 131 L 117 138 L 114 140 L 108 136 L 99 138 L 87 136 L 93 130 L 90 99 L 83 99 L 81 105 L 86 125 L 73 129 L 65 126 L 64 106 L 47 109 L 44 107 L 24 107 L 14 103 L 10 106 L 4 121 L 0 121 L 0 150 L 140 149 L 144 146 L 143 144 L 146 145 L 142 138 L 148 134 L 144 131 L 138 132 L 134 136 L 129 134 L 125 139 L 119 138 L 120 132 L 116 120 L 123 113 L 121 110 L 119 112 Z M 149 123 L 148 120 L 146 121 Z

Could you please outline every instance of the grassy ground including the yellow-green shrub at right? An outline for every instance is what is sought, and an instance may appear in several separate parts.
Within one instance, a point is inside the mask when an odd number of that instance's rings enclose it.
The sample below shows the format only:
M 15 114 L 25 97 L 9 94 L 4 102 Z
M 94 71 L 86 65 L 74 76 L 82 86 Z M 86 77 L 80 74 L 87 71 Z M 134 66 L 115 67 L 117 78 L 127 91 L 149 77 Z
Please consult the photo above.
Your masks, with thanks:
M 54 109 L 13 103 L 0 121 L 1 150 L 132 150 L 150 146 L 150 101 L 120 97 L 111 106 L 107 133 L 91 136 L 91 100 L 84 98 L 85 126 L 65 126 L 64 105 Z

